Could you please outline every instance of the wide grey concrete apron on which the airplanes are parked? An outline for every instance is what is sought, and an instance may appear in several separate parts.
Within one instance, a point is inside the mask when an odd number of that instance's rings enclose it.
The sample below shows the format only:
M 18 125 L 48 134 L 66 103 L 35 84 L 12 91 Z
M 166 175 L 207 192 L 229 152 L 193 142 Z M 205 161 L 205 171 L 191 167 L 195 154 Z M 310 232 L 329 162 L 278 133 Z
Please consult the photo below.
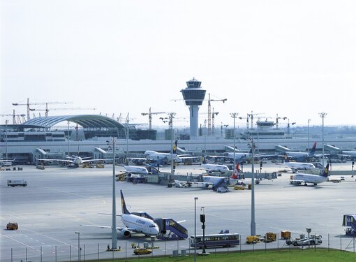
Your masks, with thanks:
M 257 165 L 256 165 L 257 166 Z M 336 168 L 336 164 L 334 168 Z M 111 246 L 111 230 L 83 227 L 80 224 L 110 226 L 111 216 L 99 213 L 112 212 L 112 166 L 105 168 L 48 167 L 38 170 L 34 166 L 22 166 L 23 170 L 0 173 L 1 197 L 1 247 L 0 261 L 75 261 L 78 254 L 82 260 L 133 256 L 131 242 L 149 242 L 135 235 L 131 239 L 118 237 L 121 252 L 105 252 Z M 244 168 L 247 168 L 244 167 Z M 122 168 L 117 167 L 117 173 Z M 262 171 L 279 170 L 274 164 L 265 164 Z M 177 172 L 187 173 L 192 167 L 178 166 Z M 247 169 L 245 169 L 247 170 Z M 297 238 L 312 233 L 322 235 L 321 247 L 346 249 L 350 239 L 340 239 L 344 234 L 341 226 L 343 214 L 356 210 L 355 177 L 346 177 L 341 183 L 325 182 L 316 187 L 292 186 L 290 174 L 283 174 L 274 181 L 255 185 L 256 232 L 292 232 Z M 25 179 L 27 187 L 7 187 L 8 179 Z M 251 191 L 230 191 L 218 194 L 200 188 L 168 188 L 156 184 L 132 184 L 116 182 L 117 213 L 121 214 L 120 189 L 124 191 L 126 205 L 131 211 L 144 211 L 153 217 L 172 217 L 186 220 L 188 235 L 194 234 L 194 197 L 197 201 L 197 234 L 202 234 L 199 214 L 204 207 L 206 233 L 219 233 L 228 229 L 239 233 L 242 242 L 250 235 Z M 7 231 L 6 224 L 15 221 L 19 230 Z M 124 226 L 120 217 L 117 226 Z M 80 235 L 75 234 L 80 232 Z M 344 235 L 343 235 L 344 237 Z M 269 247 L 281 248 L 285 241 L 279 240 Z M 188 240 L 156 241 L 154 254 L 171 255 L 175 249 L 188 249 Z M 285 247 L 285 246 L 284 246 Z M 249 245 L 235 249 L 252 249 Z M 264 243 L 254 245 L 265 248 Z M 188 251 L 189 252 L 189 251 Z M 188 253 L 187 252 L 187 253 Z M 190 251 L 192 252 L 192 251 Z M 13 259 L 13 260 L 11 260 Z

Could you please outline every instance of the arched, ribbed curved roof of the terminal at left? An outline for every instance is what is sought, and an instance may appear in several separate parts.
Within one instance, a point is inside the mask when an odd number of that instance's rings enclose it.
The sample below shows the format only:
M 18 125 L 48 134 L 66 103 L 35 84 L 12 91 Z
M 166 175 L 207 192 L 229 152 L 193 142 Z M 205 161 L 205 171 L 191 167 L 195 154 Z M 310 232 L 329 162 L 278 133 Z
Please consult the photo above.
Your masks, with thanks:
M 83 128 L 124 128 L 124 126 L 116 120 L 111 119 L 110 117 L 104 117 L 103 115 L 61 115 L 36 117 L 34 119 L 30 119 L 27 122 L 24 122 L 24 124 L 33 124 L 48 128 L 64 121 L 70 121 L 75 124 L 79 124 Z

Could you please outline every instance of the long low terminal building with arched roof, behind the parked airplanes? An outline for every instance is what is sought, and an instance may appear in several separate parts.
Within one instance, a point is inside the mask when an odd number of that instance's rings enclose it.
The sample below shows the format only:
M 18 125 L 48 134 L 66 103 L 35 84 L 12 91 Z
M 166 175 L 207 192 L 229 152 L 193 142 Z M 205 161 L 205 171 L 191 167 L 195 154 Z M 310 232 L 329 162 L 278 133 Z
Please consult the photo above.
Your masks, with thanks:
M 66 124 L 67 128 L 58 129 L 57 124 Z M 72 126 L 70 127 L 70 124 Z M 73 128 L 73 123 L 76 126 Z M 264 127 L 251 136 L 255 141 L 256 152 L 275 152 L 276 145 L 290 149 L 306 151 L 309 140 L 304 138 L 286 138 L 282 133 L 267 136 L 266 122 Z M 271 123 L 267 123 L 271 125 Z M 249 151 L 249 140 L 246 134 L 227 137 L 198 136 L 190 140 L 178 140 L 178 152 L 191 153 L 195 156 L 220 154 L 233 150 L 234 140 L 237 149 Z M 317 151 L 322 151 L 322 140 L 312 138 L 310 143 L 317 142 Z M 112 158 L 110 141 L 116 140 L 115 157 L 143 157 L 146 150 L 170 152 L 171 140 L 156 140 L 155 130 L 139 130 L 134 126 L 124 126 L 110 117 L 102 115 L 68 115 L 56 117 L 38 117 L 24 124 L 6 124 L 0 126 L 0 157 L 15 159 L 15 163 L 34 164 L 38 158 L 59 159 L 66 155 L 92 157 L 93 159 Z M 354 149 L 356 138 L 325 136 L 325 143 L 344 149 Z

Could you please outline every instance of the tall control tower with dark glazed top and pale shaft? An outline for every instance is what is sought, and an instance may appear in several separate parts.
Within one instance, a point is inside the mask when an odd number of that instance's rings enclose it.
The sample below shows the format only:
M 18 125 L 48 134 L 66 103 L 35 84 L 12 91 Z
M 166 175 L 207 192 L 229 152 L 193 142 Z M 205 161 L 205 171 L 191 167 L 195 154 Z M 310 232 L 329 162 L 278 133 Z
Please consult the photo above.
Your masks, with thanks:
M 186 82 L 186 89 L 181 89 L 183 99 L 186 105 L 189 106 L 190 120 L 191 120 L 191 138 L 198 137 L 198 111 L 199 105 L 202 105 L 202 101 L 205 98 L 206 90 L 201 89 L 202 82 L 193 78 Z

